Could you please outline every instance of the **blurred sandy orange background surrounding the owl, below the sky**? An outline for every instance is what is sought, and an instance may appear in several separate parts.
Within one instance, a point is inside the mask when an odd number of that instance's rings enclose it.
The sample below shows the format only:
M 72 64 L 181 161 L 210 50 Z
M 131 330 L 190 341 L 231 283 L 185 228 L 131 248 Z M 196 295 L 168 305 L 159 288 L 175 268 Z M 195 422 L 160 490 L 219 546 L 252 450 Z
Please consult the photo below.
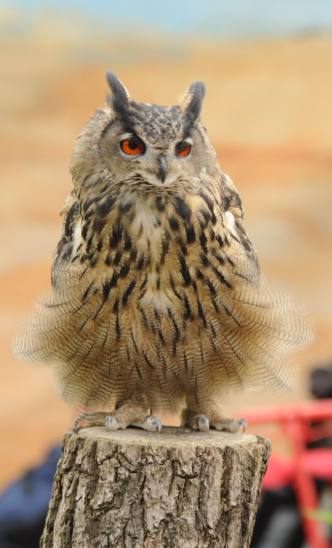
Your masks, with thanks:
M 332 36 L 111 40 L 76 20 L 62 31 L 43 19 L 0 37 L 0 487 L 41 460 L 71 425 L 48 372 L 16 362 L 10 341 L 49 286 L 71 151 L 104 104 L 107 68 L 136 101 L 158 104 L 175 104 L 190 82 L 204 80 L 203 122 L 241 194 L 262 271 L 287 284 L 316 324 L 299 383 L 282 402 L 309 397 L 308 370 L 331 359 Z M 226 410 L 267 402 L 268 395 L 249 394 Z

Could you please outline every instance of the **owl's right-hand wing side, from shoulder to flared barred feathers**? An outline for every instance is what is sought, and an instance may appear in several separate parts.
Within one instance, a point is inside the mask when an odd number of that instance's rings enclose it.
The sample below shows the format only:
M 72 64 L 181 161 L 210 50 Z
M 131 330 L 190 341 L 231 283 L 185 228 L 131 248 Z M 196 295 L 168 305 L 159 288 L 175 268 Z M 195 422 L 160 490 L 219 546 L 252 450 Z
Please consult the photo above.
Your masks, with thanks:
M 292 356 L 313 339 L 311 322 L 286 289 L 261 276 L 242 226 L 241 198 L 224 173 L 214 187 L 213 204 L 221 221 L 205 229 L 209 245 L 199 296 L 205 323 L 196 339 L 207 356 L 214 397 L 263 386 L 287 390 L 296 376 Z M 213 230 L 215 237 L 209 241 Z M 194 310 L 190 292 L 187 298 Z M 190 339 L 195 340 L 194 333 Z

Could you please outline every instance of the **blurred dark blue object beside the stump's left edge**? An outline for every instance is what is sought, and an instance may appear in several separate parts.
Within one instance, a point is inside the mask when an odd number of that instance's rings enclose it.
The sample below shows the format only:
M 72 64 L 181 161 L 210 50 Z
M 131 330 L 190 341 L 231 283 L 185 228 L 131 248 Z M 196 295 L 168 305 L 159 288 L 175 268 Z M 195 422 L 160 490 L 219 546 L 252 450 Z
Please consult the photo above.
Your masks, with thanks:
M 0 548 L 38 548 L 60 456 L 58 445 L 0 496 Z

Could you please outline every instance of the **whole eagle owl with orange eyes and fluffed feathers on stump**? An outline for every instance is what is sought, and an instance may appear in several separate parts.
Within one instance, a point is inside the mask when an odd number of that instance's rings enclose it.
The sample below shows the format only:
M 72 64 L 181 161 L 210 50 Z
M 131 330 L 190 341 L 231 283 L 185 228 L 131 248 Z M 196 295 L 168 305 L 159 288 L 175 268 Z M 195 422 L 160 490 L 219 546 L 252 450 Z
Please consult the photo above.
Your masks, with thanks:
M 289 358 L 311 327 L 261 276 L 241 199 L 221 172 L 194 82 L 179 106 L 141 104 L 107 72 L 111 94 L 78 137 L 73 189 L 51 293 L 16 334 L 88 424 L 236 432 L 228 392 L 291 387 Z

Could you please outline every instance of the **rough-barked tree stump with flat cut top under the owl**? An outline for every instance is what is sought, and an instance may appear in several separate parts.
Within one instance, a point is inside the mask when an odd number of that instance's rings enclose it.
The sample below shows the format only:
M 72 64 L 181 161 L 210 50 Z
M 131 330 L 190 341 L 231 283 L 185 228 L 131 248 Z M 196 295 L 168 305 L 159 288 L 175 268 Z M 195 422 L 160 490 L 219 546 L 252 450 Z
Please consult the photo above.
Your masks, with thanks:
M 70 429 L 41 548 L 245 548 L 270 453 L 216 430 Z

